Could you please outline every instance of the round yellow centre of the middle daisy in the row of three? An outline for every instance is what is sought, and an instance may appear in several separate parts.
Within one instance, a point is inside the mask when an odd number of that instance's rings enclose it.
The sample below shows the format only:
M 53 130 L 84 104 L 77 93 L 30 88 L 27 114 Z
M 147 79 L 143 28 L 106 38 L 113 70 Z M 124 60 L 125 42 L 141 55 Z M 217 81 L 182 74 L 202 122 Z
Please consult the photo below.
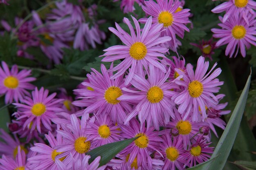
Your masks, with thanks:
M 162 89 L 160 89 L 160 87 L 157 86 L 150 87 L 150 89 L 147 92 L 148 101 L 150 101 L 151 103 L 160 102 L 163 99 L 163 97 L 164 92 L 162 91 Z

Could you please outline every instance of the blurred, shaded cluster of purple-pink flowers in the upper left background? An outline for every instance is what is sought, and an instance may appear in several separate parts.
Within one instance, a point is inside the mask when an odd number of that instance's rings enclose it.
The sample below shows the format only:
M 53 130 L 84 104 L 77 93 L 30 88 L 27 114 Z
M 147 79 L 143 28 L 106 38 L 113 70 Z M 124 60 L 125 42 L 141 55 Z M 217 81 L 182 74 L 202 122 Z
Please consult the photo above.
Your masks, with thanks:
M 26 49 L 40 47 L 51 61 L 58 64 L 63 58 L 62 48 L 73 46 L 80 50 L 88 50 L 89 47 L 96 48 L 96 44 L 101 44 L 101 40 L 106 38 L 105 33 L 99 29 L 104 20 L 96 19 L 96 4 L 92 4 L 88 9 L 67 0 L 56 2 L 55 5 L 56 8 L 47 14 L 45 22 L 38 13 L 32 11 L 32 20 L 21 24 L 17 31 L 6 21 L 1 21 L 6 31 L 18 37 L 19 57 L 33 59 Z M 21 19 L 16 18 L 16 26 L 21 22 Z

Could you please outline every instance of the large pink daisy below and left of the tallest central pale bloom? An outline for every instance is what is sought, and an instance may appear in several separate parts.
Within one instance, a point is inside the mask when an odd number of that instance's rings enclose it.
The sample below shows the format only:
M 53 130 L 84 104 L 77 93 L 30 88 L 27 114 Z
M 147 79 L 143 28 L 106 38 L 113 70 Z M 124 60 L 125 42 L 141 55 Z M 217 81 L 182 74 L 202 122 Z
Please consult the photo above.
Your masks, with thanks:
M 111 65 L 110 69 L 111 68 L 113 68 L 113 65 Z M 92 71 L 91 74 L 87 74 L 90 83 L 83 82 L 82 84 L 87 88 L 79 93 L 84 98 L 90 98 L 94 103 L 84 109 L 83 113 L 97 111 L 97 115 L 107 114 L 113 122 L 123 124 L 126 118 L 126 111 L 132 111 L 132 107 L 130 106 L 132 102 L 117 100 L 119 96 L 126 93 L 121 90 L 127 87 L 124 85 L 123 76 L 111 80 L 110 77 L 113 73 L 108 72 L 103 64 L 101 64 L 102 74 L 93 68 Z M 77 115 L 81 116 L 81 114 Z

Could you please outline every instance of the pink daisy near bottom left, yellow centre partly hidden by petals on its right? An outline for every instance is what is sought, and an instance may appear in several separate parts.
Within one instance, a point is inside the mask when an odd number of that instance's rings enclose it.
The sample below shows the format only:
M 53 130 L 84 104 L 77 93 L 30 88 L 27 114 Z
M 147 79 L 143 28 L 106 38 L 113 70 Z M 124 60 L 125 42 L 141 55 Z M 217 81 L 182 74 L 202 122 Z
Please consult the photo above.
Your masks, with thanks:
M 45 135 L 47 141 L 49 142 L 49 146 L 42 143 L 34 144 L 34 147 L 30 149 L 35 153 L 38 153 L 34 157 L 30 157 L 27 159 L 29 163 L 31 163 L 31 167 L 33 170 L 42 170 L 42 169 L 57 169 L 55 157 L 60 155 L 61 153 L 56 152 L 54 150 L 54 146 L 64 144 L 61 135 L 57 134 L 56 139 L 49 131 L 48 135 Z M 63 161 L 65 157 L 62 157 L 60 160 Z

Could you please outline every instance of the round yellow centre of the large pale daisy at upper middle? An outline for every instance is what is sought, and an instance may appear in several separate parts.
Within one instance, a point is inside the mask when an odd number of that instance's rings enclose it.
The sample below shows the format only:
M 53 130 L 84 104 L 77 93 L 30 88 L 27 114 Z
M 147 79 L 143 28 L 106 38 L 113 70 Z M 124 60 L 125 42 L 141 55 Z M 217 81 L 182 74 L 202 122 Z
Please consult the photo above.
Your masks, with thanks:
M 135 42 L 129 50 L 130 56 L 136 60 L 144 59 L 147 54 L 147 47 L 142 42 Z

